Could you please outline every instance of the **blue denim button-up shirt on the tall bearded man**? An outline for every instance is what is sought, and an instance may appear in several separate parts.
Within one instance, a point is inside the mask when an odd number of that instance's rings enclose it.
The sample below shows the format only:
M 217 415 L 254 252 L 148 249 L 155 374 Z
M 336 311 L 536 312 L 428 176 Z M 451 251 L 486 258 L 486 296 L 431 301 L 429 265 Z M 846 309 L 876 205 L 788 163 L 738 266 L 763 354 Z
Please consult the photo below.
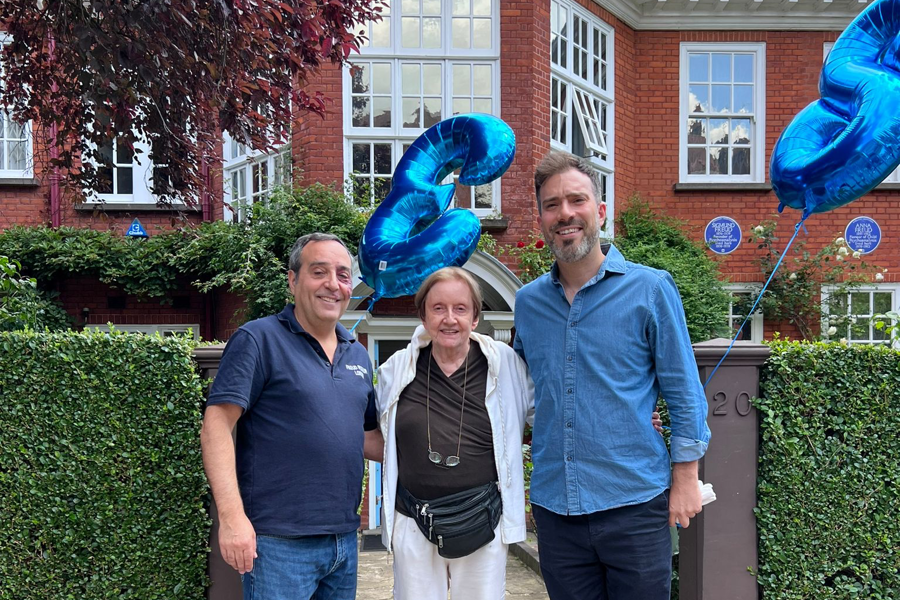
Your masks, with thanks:
M 571 306 L 556 265 L 516 295 L 516 351 L 535 384 L 531 501 L 557 514 L 646 502 L 671 485 L 650 422 L 662 395 L 672 460 L 706 453 L 707 403 L 681 297 L 665 271 L 614 246 Z

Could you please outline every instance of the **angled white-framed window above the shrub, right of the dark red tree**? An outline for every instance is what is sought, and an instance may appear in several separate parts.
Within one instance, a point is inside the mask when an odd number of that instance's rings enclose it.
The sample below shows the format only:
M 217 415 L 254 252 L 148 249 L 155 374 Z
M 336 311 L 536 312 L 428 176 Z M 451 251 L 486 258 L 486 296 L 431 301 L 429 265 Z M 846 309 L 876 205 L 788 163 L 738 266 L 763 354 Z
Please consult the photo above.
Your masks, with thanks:
M 223 213 L 226 221 L 245 221 L 256 202 L 264 202 L 275 188 L 291 184 L 291 145 L 277 152 L 254 151 L 223 134 Z

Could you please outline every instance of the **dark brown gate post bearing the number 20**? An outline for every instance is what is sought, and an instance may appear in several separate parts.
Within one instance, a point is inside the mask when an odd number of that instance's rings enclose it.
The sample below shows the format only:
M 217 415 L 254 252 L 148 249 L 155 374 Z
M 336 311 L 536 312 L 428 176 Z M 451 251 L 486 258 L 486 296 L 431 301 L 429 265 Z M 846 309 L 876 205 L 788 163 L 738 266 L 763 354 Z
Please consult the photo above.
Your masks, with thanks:
M 731 340 L 694 344 L 700 381 L 706 382 Z M 736 342 L 706 388 L 709 451 L 700 479 L 716 501 L 679 530 L 680 600 L 758 600 L 756 474 L 759 418 L 750 399 L 759 395 L 759 371 L 769 348 Z M 752 572 L 751 572 L 752 571 Z

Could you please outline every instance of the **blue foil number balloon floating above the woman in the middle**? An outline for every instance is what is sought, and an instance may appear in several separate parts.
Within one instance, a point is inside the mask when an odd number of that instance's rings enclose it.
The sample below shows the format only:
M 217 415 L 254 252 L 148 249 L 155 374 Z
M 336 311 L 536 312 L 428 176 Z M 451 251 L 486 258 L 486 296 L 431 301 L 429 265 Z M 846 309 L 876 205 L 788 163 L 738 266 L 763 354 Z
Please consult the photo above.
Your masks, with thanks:
M 469 260 L 481 223 L 470 210 L 447 210 L 456 186 L 440 182 L 461 167 L 461 184 L 483 185 L 509 168 L 515 152 L 509 125 L 483 114 L 441 121 L 413 142 L 359 243 L 359 267 L 375 290 L 373 301 L 415 294 L 433 272 Z

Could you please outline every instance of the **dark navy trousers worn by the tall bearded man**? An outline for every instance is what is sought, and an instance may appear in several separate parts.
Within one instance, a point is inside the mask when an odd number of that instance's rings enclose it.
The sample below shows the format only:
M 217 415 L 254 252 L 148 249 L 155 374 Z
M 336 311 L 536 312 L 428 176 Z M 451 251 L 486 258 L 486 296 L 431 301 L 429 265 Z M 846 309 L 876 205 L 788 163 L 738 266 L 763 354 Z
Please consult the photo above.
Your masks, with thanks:
M 532 505 L 551 600 L 668 600 L 669 494 L 589 515 Z

